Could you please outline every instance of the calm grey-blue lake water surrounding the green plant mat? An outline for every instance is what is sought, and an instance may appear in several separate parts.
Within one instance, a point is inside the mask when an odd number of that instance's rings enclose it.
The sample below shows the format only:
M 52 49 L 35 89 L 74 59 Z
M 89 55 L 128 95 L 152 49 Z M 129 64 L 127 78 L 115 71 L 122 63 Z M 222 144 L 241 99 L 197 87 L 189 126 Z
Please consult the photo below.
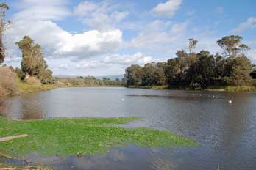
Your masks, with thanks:
M 124 127 L 171 130 L 201 144 L 172 149 L 130 144 L 113 148 L 107 155 L 42 158 L 31 154 L 24 158 L 54 169 L 218 169 L 218 165 L 220 169 L 256 169 L 255 93 L 54 89 L 10 97 L 4 110 L 10 119 L 143 117 Z

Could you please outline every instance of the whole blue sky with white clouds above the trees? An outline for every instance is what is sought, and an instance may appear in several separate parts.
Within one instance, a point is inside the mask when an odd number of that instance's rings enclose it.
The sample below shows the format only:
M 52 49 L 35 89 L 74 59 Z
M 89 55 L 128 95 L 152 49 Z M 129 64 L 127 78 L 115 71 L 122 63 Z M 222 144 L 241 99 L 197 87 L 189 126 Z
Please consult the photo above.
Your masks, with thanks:
M 43 48 L 54 75 L 121 75 L 130 64 L 166 62 L 188 39 L 211 53 L 235 34 L 256 63 L 255 0 L 7 0 L 4 64 L 20 67 L 15 42 L 25 35 Z

